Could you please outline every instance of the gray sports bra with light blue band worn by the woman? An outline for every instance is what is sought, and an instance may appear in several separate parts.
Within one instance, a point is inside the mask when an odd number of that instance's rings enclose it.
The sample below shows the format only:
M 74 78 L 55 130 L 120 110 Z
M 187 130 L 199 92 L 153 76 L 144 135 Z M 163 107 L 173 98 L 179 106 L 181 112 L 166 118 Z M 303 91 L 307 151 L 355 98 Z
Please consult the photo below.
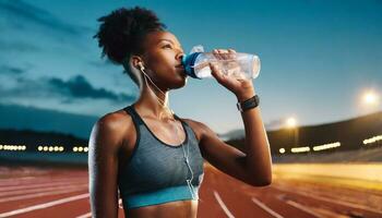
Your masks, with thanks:
M 203 157 L 192 129 L 175 116 L 182 123 L 186 140 L 178 146 L 168 145 L 153 134 L 133 105 L 124 110 L 133 120 L 136 142 L 130 159 L 118 173 L 123 207 L 198 199 L 204 170 Z M 184 155 L 188 156 L 188 162 Z

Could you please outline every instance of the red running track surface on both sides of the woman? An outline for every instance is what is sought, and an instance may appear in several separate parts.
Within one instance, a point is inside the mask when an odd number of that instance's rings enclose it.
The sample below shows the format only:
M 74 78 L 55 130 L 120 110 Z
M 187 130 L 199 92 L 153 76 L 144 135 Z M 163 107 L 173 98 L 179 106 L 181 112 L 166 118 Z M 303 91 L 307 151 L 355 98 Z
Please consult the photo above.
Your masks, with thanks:
M 0 217 L 91 217 L 86 169 L 0 168 Z M 198 217 L 377 218 L 381 202 L 381 192 L 277 175 L 253 187 L 206 166 Z

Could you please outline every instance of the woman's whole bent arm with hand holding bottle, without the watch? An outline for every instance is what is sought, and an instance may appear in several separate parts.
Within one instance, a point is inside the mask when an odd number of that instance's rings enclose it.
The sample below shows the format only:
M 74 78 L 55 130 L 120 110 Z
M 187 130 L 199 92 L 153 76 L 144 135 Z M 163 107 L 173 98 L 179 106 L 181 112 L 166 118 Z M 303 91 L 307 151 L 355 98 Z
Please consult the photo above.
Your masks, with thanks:
M 235 50 L 223 49 L 213 52 L 223 59 L 236 53 Z M 225 76 L 216 64 L 211 64 L 211 69 L 216 81 L 231 90 L 238 101 L 254 96 L 251 80 Z M 255 186 L 268 185 L 272 182 L 272 158 L 260 108 L 242 112 L 241 118 L 246 129 L 244 153 L 224 143 L 205 124 L 193 122 L 194 129 L 199 132 L 202 155 L 219 170 L 246 183 Z

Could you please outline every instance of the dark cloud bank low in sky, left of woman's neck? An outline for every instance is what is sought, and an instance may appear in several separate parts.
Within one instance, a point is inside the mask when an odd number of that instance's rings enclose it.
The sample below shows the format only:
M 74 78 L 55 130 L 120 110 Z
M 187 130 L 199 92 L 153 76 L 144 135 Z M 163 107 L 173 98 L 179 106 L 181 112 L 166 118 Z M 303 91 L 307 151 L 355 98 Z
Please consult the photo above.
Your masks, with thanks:
M 13 88 L 0 87 L 2 98 L 61 98 L 61 102 L 70 104 L 79 99 L 107 99 L 111 102 L 133 101 L 134 95 L 115 93 L 105 88 L 94 87 L 84 76 L 76 75 L 68 81 L 58 77 L 15 78 L 17 85 Z

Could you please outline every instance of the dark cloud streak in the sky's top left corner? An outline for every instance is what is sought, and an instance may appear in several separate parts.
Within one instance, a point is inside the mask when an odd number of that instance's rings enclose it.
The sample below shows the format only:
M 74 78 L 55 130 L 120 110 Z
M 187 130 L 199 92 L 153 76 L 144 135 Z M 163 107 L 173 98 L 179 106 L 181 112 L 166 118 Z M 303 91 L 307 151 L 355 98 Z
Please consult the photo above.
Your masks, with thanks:
M 65 23 L 49 11 L 31 5 L 22 0 L 0 2 L 0 12 L 13 28 L 25 28 L 28 24 L 37 24 L 68 35 L 79 36 L 92 31 L 88 27 Z

